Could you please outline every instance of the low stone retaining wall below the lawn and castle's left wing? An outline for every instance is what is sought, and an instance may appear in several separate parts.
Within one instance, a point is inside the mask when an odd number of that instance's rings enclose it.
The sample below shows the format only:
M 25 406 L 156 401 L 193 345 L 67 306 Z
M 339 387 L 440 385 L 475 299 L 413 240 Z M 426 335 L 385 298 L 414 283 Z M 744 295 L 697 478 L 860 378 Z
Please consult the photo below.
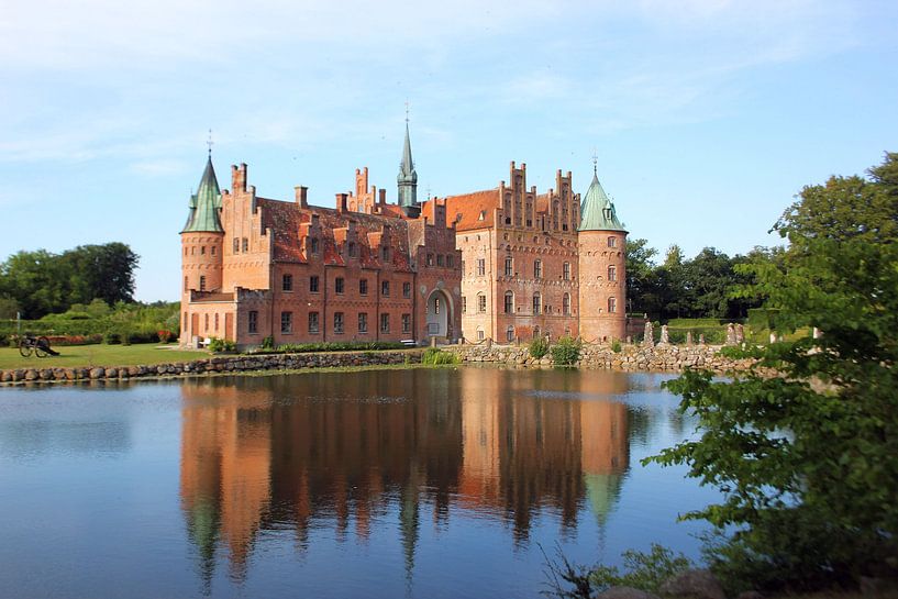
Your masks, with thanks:
M 251 370 L 293 370 L 377 366 L 421 362 L 420 352 L 346 352 L 332 354 L 277 354 L 215 356 L 193 362 L 175 362 L 148 366 L 106 366 L 79 368 L 15 368 L 0 370 L 0 384 L 75 380 L 123 380 L 244 373 Z

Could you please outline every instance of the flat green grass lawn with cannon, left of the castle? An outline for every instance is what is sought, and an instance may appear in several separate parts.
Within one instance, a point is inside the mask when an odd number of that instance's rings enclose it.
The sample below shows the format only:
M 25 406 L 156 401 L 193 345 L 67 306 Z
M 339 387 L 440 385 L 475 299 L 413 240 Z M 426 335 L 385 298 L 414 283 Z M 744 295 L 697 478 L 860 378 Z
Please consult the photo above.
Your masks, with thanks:
M 208 352 L 174 350 L 176 345 L 73 345 L 54 347 L 59 356 L 38 358 L 22 357 L 15 347 L 0 347 L 0 369 L 10 368 L 70 368 L 75 366 L 136 366 L 138 364 L 162 364 L 167 362 L 189 362 L 209 357 Z

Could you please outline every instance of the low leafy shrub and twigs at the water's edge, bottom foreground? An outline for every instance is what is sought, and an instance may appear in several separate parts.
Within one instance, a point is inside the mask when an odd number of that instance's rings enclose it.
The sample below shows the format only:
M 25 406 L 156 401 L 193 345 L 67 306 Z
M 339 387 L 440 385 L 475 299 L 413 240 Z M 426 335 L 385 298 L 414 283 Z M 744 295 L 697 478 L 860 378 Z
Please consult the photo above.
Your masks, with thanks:
M 616 566 L 575 566 L 558 552 L 558 562 L 547 561 L 551 590 L 546 595 L 563 599 L 590 599 L 596 592 L 611 587 L 632 587 L 656 594 L 665 580 L 694 567 L 685 555 L 674 554 L 655 543 L 648 553 L 628 550 L 621 557 L 623 573 Z

